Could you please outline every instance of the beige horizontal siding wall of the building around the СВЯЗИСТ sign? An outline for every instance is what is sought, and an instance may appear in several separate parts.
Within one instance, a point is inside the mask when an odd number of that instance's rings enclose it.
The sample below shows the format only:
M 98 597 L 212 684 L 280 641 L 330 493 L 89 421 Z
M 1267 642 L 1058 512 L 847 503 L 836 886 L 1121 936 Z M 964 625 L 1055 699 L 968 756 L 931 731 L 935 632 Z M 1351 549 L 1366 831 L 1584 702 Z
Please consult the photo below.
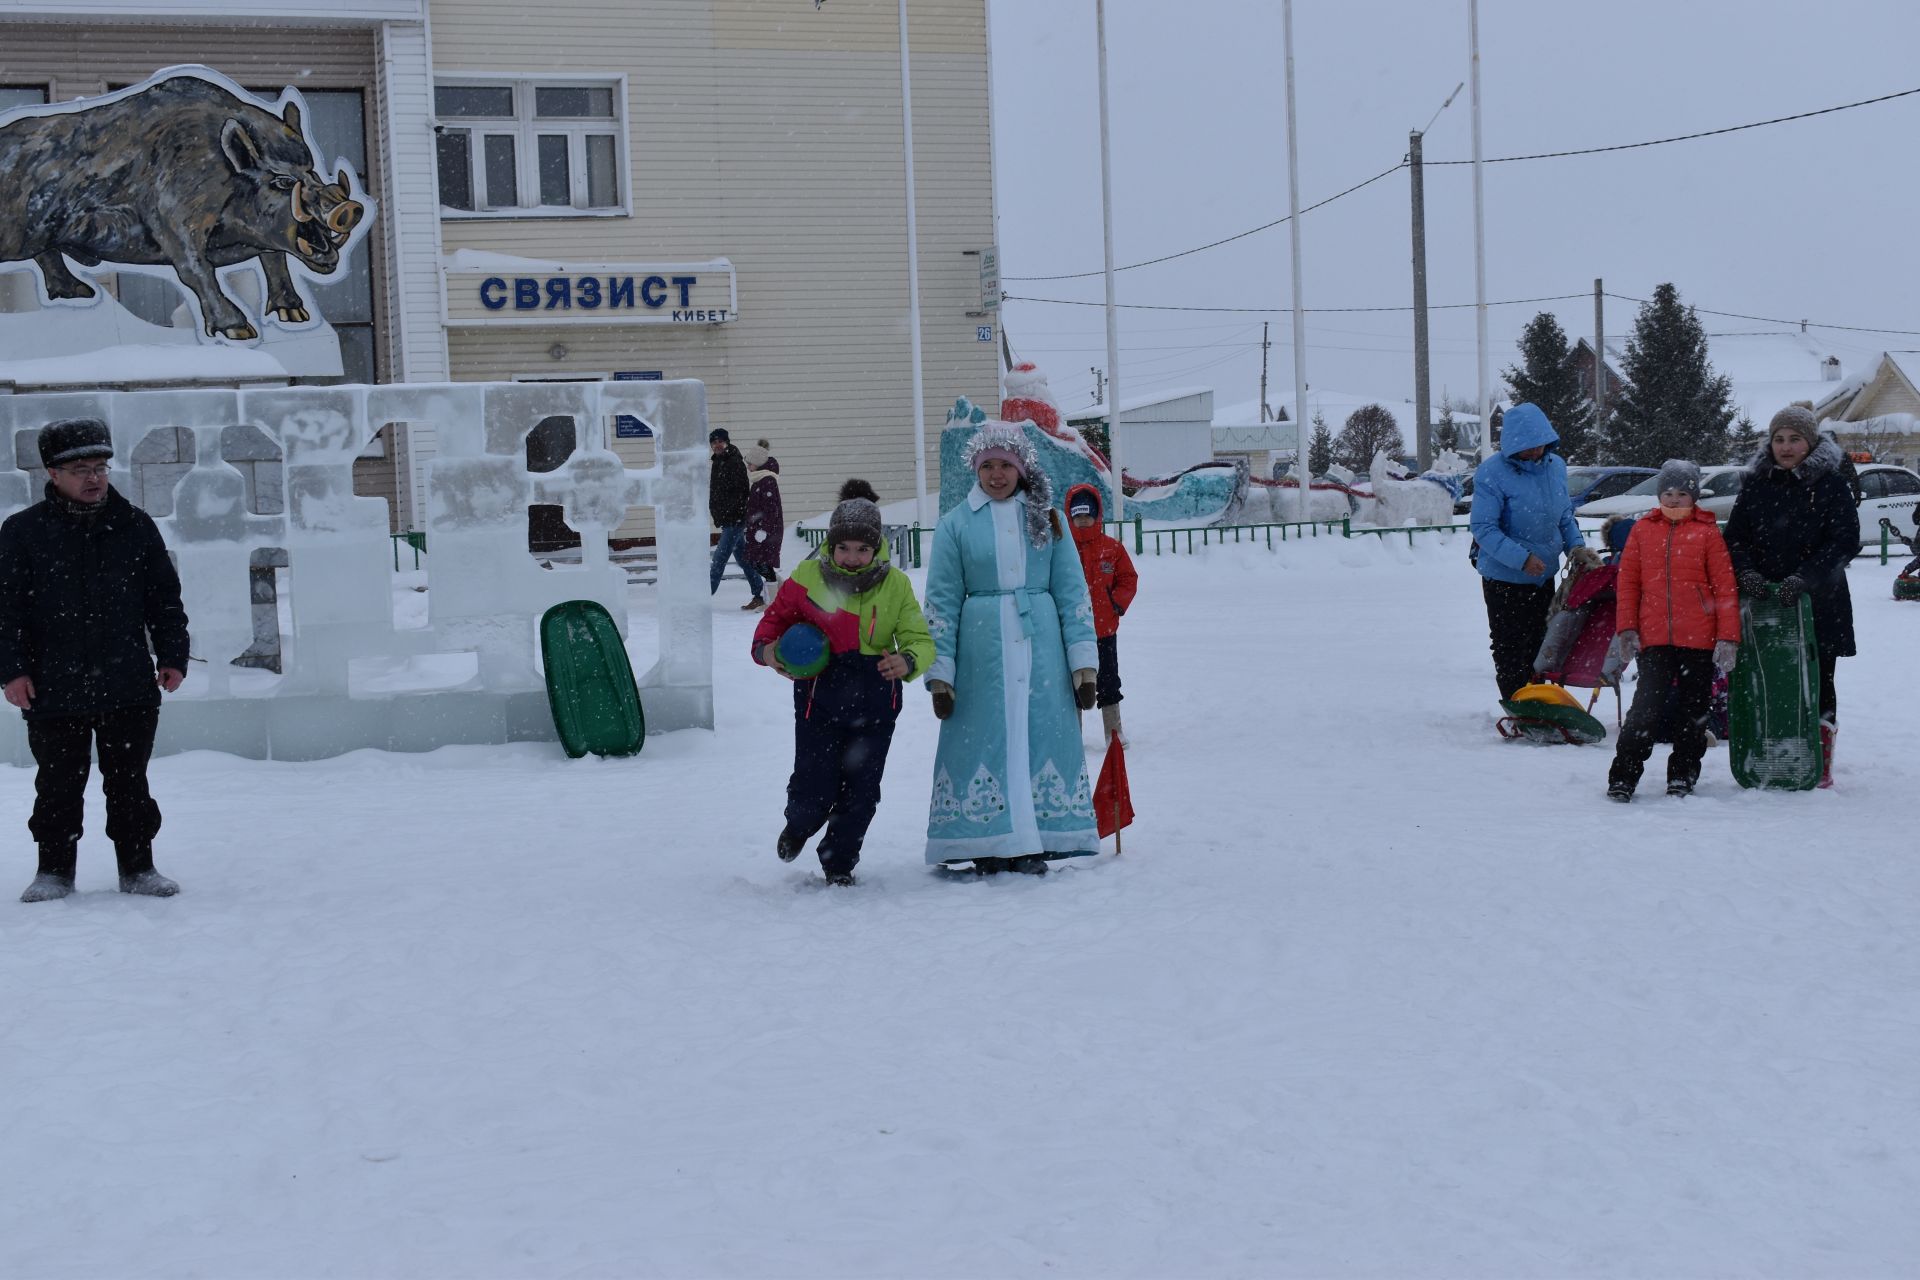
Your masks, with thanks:
M 451 73 L 626 73 L 632 217 L 447 219 L 447 251 L 570 263 L 732 259 L 724 326 L 453 330 L 459 380 L 660 370 L 708 384 L 735 443 L 766 438 L 789 520 L 841 480 L 914 482 L 899 27 L 893 0 L 570 4 L 520 21 L 503 0 L 438 0 Z M 914 0 L 927 484 L 954 397 L 998 399 L 998 328 L 979 342 L 993 242 L 985 0 Z M 555 344 L 564 359 L 551 359 Z M 626 532 L 624 532 L 626 533 Z

